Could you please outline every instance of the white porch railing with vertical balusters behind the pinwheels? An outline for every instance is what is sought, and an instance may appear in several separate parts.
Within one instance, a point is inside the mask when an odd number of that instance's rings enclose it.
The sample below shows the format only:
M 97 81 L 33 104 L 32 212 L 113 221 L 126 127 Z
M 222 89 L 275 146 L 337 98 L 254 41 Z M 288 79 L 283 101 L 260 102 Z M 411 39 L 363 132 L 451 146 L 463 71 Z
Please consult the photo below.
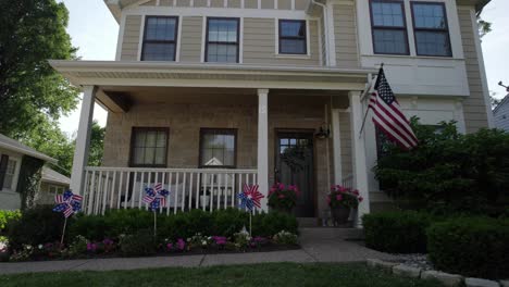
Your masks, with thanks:
M 104 214 L 108 209 L 147 208 L 145 188 L 162 183 L 170 191 L 159 212 L 191 209 L 207 211 L 237 205 L 245 184 L 258 183 L 257 170 L 85 167 L 84 212 Z

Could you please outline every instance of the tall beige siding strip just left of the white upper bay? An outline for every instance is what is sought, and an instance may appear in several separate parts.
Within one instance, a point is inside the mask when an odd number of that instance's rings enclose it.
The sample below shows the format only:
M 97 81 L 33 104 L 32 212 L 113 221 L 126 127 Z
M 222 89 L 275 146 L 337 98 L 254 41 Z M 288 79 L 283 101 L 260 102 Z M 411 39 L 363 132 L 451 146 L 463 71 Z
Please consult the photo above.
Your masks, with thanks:
M 333 5 L 336 65 L 359 67 L 357 49 L 356 10 L 353 5 Z

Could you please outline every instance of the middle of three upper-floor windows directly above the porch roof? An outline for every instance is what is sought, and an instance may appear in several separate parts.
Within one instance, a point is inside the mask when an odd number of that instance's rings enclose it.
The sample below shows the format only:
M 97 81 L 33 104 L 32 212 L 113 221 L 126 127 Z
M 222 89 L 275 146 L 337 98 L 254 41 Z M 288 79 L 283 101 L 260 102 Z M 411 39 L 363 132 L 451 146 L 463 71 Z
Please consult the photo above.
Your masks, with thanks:
M 238 18 L 207 18 L 206 62 L 238 62 Z

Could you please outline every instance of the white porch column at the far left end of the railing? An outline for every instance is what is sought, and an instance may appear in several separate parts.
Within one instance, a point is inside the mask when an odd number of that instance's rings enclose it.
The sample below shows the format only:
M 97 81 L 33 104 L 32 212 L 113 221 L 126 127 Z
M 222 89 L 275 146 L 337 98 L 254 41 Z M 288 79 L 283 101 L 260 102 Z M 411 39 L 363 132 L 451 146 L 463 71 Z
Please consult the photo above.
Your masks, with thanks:
M 83 196 L 82 187 L 85 179 L 85 166 L 88 162 L 88 150 L 90 144 L 90 129 L 94 115 L 94 103 L 96 101 L 96 86 L 83 88 L 82 112 L 79 115 L 76 148 L 74 150 L 73 170 L 71 172 L 71 190 Z

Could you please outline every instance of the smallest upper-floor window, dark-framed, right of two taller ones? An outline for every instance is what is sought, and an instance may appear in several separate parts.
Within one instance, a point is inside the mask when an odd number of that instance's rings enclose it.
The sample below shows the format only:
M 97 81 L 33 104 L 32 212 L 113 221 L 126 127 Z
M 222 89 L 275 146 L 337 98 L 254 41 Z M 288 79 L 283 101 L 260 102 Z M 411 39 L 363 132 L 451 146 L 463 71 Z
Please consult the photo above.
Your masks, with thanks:
M 280 20 L 280 53 L 307 53 L 306 21 Z

